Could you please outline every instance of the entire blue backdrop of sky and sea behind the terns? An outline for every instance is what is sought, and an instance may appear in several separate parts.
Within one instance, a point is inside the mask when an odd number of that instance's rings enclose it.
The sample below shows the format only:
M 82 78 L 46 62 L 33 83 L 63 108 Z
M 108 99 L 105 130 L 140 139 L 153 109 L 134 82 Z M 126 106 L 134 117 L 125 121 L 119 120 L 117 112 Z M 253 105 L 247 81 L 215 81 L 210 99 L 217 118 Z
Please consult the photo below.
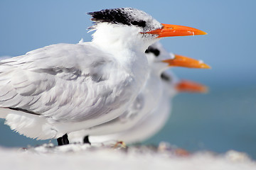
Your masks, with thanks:
M 174 99 L 169 123 L 146 143 L 161 140 L 190 151 L 236 149 L 256 158 L 256 1 L 0 1 L 0 56 L 23 55 L 59 42 L 90 41 L 89 11 L 133 7 L 161 23 L 199 28 L 208 35 L 165 38 L 167 50 L 204 60 L 213 69 L 174 69 L 210 87 L 208 95 Z M 0 145 L 42 142 L 0 124 Z

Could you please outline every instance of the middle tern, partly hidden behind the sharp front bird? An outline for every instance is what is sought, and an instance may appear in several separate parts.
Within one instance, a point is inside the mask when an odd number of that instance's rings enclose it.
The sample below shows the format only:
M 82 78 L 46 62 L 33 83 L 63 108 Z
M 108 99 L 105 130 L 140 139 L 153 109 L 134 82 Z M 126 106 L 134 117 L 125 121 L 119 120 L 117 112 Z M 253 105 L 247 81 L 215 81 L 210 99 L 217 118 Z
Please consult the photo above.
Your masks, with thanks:
M 142 119 L 151 115 L 154 109 L 159 105 L 162 95 L 166 93 L 162 90 L 164 87 L 161 81 L 161 75 L 163 75 L 164 70 L 169 69 L 169 67 L 210 68 L 202 61 L 166 52 L 159 42 L 154 43 L 154 45 L 151 45 L 146 50 L 146 56 L 150 68 L 149 78 L 146 81 L 144 89 L 142 89 L 134 102 L 122 115 L 110 122 L 97 125 L 87 130 L 81 130 L 80 132 L 70 133 L 69 138 L 72 142 L 81 142 L 81 137 L 83 136 L 86 136 L 86 142 L 87 135 L 108 135 L 124 132 L 125 130 L 133 128 Z M 184 87 L 182 87 L 182 89 L 184 89 Z M 169 100 L 167 99 L 167 101 Z

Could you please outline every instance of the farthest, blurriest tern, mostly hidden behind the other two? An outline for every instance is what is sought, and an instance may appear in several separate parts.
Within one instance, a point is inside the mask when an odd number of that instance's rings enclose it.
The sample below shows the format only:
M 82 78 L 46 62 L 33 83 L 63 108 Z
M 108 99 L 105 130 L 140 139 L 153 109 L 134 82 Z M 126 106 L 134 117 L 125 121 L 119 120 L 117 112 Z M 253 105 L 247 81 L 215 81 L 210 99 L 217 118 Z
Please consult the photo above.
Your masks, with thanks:
M 156 133 L 159 132 L 169 120 L 172 108 L 171 100 L 177 93 L 206 93 L 208 91 L 207 87 L 203 84 L 198 84 L 194 81 L 188 80 L 179 81 L 170 71 L 161 74 L 161 78 L 164 84 L 164 88 L 162 89 L 164 93 L 152 114 L 140 120 L 139 123 L 129 130 L 124 130 L 123 132 L 110 135 L 92 135 L 88 140 L 92 143 L 124 141 L 126 144 L 136 144 L 144 142 L 150 137 L 156 135 Z M 81 142 L 82 140 L 83 139 L 81 137 L 76 138 L 76 142 Z

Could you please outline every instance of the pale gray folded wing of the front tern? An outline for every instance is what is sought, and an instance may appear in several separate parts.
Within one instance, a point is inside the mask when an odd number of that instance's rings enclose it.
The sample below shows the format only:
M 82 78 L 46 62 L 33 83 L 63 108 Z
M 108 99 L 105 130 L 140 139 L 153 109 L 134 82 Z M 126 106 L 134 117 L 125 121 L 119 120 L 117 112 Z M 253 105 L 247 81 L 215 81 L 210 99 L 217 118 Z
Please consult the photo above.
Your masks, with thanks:
M 107 82 L 119 67 L 113 60 L 90 44 L 50 45 L 2 60 L 0 107 L 53 120 L 96 118 L 117 107 L 106 107 L 114 90 Z

